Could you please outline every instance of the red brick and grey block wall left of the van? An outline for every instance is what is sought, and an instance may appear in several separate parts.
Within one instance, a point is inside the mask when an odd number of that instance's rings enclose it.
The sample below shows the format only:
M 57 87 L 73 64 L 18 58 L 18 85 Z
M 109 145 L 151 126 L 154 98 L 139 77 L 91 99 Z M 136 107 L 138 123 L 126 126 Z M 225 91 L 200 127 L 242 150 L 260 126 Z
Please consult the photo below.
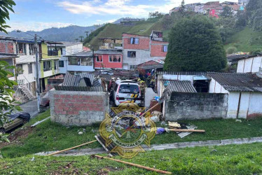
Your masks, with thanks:
M 50 91 L 51 120 L 62 125 L 85 126 L 104 120 L 109 111 L 104 92 Z

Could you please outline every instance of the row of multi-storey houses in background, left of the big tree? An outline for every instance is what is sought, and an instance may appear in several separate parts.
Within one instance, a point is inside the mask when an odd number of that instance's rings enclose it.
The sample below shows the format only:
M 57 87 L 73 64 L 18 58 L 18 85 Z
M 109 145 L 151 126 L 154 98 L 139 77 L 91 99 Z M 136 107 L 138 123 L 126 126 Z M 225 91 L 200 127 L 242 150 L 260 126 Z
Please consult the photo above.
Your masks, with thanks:
M 95 70 L 135 70 L 138 64 L 165 59 L 168 43 L 163 33 L 151 36 L 123 34 L 122 38 L 99 38 L 97 51 L 87 51 L 83 43 L 37 41 L 40 91 L 49 90 L 48 80 L 60 79 L 65 73 Z M 83 49 L 84 48 L 84 49 Z M 17 96 L 33 99 L 36 92 L 36 48 L 34 40 L 0 36 L 0 59 L 16 66 L 11 80 L 18 82 Z

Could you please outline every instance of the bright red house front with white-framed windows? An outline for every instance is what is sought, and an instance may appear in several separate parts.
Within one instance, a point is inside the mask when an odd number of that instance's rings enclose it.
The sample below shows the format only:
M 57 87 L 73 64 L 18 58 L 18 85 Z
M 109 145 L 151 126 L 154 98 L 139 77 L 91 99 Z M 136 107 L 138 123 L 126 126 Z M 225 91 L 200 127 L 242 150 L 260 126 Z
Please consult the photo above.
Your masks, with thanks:
M 95 52 L 95 69 L 122 69 L 122 50 L 97 50 Z

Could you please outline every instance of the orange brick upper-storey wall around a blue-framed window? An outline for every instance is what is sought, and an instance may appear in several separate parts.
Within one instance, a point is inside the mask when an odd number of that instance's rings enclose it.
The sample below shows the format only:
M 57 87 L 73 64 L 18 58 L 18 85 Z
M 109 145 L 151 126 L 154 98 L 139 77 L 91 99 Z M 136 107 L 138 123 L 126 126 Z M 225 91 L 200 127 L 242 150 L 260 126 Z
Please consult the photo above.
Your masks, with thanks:
M 130 38 L 139 38 L 139 44 L 130 44 Z M 149 50 L 150 38 L 149 36 L 140 36 L 135 34 L 123 34 L 123 48 Z

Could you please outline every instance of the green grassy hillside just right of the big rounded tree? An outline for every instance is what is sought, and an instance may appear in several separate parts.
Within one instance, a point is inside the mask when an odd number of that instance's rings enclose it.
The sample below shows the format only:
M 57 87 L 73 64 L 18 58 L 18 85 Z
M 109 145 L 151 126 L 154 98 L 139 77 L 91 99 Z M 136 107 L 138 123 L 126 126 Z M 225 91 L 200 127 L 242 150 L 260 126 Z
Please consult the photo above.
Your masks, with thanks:
M 250 52 L 252 50 L 262 49 L 262 33 L 253 31 L 246 27 L 237 34 L 228 39 L 225 49 L 233 46 L 238 52 Z

